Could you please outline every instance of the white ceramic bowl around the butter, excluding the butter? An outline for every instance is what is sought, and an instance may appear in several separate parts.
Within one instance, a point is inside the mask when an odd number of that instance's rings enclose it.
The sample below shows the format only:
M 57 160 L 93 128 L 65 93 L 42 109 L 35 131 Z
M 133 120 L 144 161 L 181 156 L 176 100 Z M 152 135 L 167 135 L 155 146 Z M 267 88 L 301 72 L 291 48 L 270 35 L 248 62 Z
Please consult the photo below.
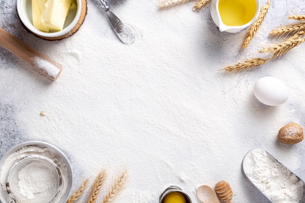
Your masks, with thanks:
M 36 36 L 42 38 L 61 37 L 69 34 L 69 32 L 71 32 L 76 27 L 77 22 L 80 18 L 81 9 L 82 9 L 81 0 L 75 0 L 75 2 L 77 4 L 77 8 L 69 11 L 69 15 L 66 18 L 63 29 L 57 32 L 52 32 L 52 31 L 49 33 L 43 32 L 38 30 L 33 25 L 31 0 L 17 0 L 17 12 L 23 25 Z

